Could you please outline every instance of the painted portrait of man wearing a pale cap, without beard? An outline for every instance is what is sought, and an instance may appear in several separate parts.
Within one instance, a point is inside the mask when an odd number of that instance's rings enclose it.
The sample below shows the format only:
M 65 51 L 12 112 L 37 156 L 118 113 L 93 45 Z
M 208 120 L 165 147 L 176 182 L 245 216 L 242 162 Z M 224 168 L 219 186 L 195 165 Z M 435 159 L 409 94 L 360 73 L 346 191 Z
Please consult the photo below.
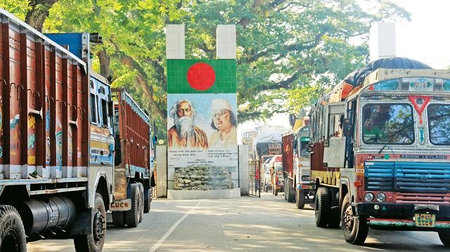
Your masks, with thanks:
M 211 127 L 215 130 L 210 135 L 210 147 L 231 147 L 237 145 L 236 114 L 231 110 L 230 102 L 214 99 L 211 102 Z

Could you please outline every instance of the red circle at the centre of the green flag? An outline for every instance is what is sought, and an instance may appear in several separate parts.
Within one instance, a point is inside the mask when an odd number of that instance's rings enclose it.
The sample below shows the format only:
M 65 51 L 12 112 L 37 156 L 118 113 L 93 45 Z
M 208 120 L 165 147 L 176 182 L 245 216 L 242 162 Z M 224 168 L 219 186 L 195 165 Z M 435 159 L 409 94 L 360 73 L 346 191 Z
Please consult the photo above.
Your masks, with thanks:
M 198 62 L 189 67 L 187 77 L 189 86 L 198 91 L 205 91 L 214 84 L 216 73 L 209 64 Z

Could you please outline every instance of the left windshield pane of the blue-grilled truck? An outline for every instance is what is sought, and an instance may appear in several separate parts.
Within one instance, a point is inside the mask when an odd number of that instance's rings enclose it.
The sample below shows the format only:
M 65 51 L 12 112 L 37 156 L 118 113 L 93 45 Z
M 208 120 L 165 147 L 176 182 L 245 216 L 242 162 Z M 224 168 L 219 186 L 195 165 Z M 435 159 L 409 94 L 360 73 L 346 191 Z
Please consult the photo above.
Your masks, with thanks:
M 366 144 L 409 145 L 414 142 L 413 108 L 392 103 L 364 105 L 361 128 Z

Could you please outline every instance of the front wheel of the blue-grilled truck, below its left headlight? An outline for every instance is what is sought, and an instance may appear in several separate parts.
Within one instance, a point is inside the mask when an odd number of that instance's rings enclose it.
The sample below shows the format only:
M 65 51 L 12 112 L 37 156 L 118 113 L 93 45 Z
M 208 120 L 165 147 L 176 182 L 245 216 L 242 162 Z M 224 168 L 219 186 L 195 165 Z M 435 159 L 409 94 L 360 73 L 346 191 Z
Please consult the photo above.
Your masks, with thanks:
M 368 233 L 367 221 L 366 218 L 354 215 L 354 208 L 348 193 L 342 201 L 341 220 L 345 241 L 356 245 L 364 244 Z

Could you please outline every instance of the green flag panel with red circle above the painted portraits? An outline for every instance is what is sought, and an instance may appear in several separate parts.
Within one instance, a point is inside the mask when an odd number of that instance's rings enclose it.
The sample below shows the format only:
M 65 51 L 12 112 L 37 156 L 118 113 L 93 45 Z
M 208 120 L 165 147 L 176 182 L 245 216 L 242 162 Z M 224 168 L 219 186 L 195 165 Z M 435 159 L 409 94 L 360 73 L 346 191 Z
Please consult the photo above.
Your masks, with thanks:
M 236 93 L 236 60 L 167 60 L 167 93 Z

